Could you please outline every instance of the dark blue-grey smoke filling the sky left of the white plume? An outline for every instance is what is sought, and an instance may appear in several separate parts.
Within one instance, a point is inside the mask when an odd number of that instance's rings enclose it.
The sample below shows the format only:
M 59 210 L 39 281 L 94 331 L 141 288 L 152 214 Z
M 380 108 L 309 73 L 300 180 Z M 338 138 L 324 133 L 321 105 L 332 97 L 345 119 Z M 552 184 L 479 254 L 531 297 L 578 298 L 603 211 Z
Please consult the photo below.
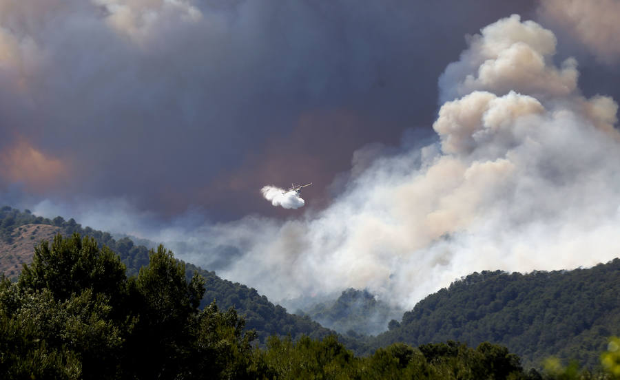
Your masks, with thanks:
M 0 197 L 277 215 L 262 184 L 327 184 L 355 149 L 431 123 L 462 48 L 447 25 L 534 9 L 447 3 L 0 0 L 0 167 L 19 160 Z

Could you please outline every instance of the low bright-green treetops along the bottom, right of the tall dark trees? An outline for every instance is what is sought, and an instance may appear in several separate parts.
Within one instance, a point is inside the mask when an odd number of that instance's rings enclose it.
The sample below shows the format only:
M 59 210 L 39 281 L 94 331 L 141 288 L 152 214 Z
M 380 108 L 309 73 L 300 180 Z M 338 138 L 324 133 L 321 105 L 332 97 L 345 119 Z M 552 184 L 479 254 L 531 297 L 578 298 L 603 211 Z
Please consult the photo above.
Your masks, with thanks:
M 296 343 L 276 337 L 256 361 L 274 379 L 540 379 L 524 371 L 506 348 L 481 344 L 427 344 L 413 348 L 393 344 L 368 357 L 355 357 L 335 336 L 322 341 L 302 337 Z

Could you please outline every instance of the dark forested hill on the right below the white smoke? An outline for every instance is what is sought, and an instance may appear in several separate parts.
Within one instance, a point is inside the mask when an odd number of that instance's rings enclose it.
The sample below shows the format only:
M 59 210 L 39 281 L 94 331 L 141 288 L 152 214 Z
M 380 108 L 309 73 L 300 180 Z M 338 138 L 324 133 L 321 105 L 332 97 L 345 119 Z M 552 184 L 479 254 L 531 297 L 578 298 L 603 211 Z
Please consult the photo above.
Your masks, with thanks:
M 607 337 L 620 334 L 620 259 L 574 271 L 474 273 L 429 295 L 390 327 L 371 346 L 493 341 L 526 366 L 555 355 L 592 368 Z

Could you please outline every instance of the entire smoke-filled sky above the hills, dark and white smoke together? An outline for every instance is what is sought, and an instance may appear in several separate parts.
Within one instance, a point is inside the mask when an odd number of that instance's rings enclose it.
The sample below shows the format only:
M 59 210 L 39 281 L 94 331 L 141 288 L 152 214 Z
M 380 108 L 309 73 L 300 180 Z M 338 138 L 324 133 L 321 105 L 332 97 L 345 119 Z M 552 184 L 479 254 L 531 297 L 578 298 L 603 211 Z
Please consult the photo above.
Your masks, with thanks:
M 0 0 L 0 203 L 165 242 L 282 302 L 353 286 L 411 307 L 473 271 L 605 262 L 619 15 Z M 263 198 L 291 182 L 313 182 L 302 207 Z

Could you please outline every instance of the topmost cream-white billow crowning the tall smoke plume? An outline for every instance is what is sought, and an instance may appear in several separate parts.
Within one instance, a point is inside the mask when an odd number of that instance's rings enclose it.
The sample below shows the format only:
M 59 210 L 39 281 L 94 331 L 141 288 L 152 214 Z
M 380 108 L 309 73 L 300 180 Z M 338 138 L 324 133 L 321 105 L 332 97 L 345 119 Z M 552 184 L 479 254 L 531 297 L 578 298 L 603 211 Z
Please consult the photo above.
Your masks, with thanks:
M 459 61 L 440 78 L 440 103 L 487 89 L 496 94 L 517 91 L 536 96 L 566 96 L 577 87 L 577 61 L 561 68 L 548 65 L 555 54 L 555 35 L 534 21 L 514 15 L 471 37 Z

